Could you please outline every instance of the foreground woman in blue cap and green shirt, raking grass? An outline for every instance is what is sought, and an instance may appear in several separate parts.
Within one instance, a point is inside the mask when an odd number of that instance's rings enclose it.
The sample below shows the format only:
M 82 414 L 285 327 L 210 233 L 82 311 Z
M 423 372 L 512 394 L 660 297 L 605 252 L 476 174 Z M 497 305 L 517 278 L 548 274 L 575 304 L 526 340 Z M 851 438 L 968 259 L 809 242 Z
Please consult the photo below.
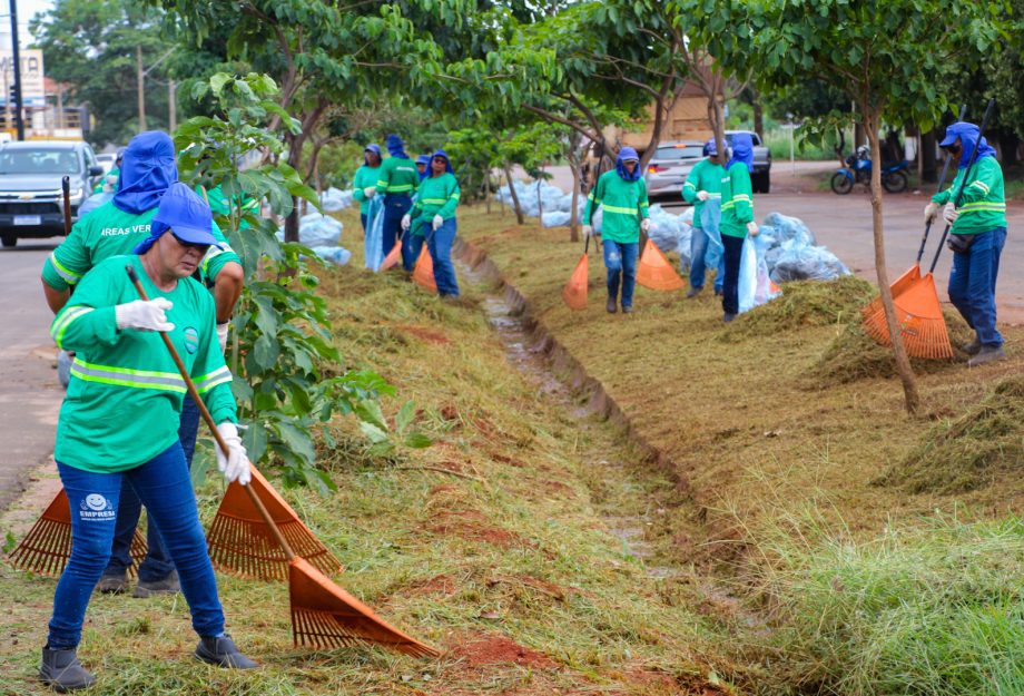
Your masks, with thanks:
M 96 679 L 77 657 L 92 588 L 110 557 L 124 482 L 138 493 L 160 530 L 200 636 L 203 661 L 247 669 L 224 633 L 224 611 L 199 525 L 196 497 L 178 439 L 185 381 L 157 332 L 167 332 L 229 453 L 217 465 L 245 484 L 249 461 L 235 427 L 232 374 L 217 343 L 214 298 L 196 280 L 217 243 L 207 206 L 185 184 L 164 195 L 149 236 L 135 252 L 97 265 L 57 314 L 50 333 L 79 355 L 60 409 L 53 458 L 71 507 L 71 557 L 53 594 L 53 615 L 40 677 L 57 690 Z M 125 273 L 131 265 L 151 300 Z

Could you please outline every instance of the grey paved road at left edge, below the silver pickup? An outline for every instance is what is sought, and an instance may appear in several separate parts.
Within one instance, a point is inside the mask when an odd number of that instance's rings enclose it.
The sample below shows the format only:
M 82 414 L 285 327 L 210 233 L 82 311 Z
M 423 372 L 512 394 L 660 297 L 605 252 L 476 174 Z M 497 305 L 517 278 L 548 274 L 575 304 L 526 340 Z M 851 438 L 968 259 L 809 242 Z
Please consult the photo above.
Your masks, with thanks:
M 49 459 L 63 390 L 39 271 L 55 241 L 0 251 L 0 511 Z

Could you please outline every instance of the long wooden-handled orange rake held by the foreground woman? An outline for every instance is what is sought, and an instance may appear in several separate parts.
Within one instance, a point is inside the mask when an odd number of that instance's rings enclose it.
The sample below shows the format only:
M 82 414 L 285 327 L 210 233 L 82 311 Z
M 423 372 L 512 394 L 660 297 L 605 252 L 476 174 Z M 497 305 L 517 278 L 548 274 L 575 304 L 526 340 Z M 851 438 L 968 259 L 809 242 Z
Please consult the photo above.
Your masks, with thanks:
M 128 276 L 136 292 L 142 300 L 148 300 L 146 291 L 139 284 L 132 266 L 127 266 Z M 228 447 L 220 437 L 214 419 L 196 391 L 188 369 L 181 362 L 177 349 L 165 332 L 160 332 L 164 345 L 170 353 L 185 381 L 189 395 L 199 408 L 199 413 L 209 427 L 220 451 L 227 453 Z M 250 467 L 255 473 L 255 467 Z M 256 481 L 257 479 L 253 479 Z M 292 605 L 292 633 L 295 645 L 315 647 L 351 646 L 356 644 L 381 645 L 406 655 L 416 657 L 436 656 L 440 653 L 420 643 L 374 614 L 373 609 L 334 585 L 324 574 L 305 559 L 295 555 L 288 540 L 278 529 L 274 518 L 259 499 L 252 486 L 239 486 L 248 494 L 253 507 L 263 518 L 270 535 L 284 551 L 288 561 L 288 598 Z

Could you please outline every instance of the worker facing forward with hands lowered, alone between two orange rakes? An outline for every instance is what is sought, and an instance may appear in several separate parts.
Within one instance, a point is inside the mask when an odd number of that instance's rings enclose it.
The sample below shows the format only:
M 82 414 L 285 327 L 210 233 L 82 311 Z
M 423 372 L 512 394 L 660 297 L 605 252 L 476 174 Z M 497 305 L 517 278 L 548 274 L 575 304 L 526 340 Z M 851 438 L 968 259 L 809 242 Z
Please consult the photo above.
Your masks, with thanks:
M 631 147 L 619 150 L 614 171 L 605 171 L 587 197 L 583 209 L 583 234 L 593 234 L 593 214 L 601 207 L 601 235 L 604 247 L 608 302 L 613 314 L 621 304 L 622 312 L 633 311 L 633 288 L 637 283 L 637 258 L 640 231 L 650 229 L 647 184 L 640 171 L 640 156 Z M 619 288 L 621 287 L 621 302 Z

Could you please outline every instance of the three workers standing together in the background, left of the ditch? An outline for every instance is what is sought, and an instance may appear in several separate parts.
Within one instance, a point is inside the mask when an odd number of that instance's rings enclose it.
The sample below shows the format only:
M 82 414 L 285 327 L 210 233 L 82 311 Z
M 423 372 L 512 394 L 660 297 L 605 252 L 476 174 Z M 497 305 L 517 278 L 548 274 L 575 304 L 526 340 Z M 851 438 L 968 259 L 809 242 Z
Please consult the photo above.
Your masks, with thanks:
M 443 149 L 421 155 L 415 163 L 405 153 L 405 144 L 396 135 L 385 140 L 390 157 L 383 159 L 381 147 L 367 145 L 363 166 L 354 177 L 353 197 L 360 202 L 360 219 L 364 238 L 370 243 L 371 202 L 383 196 L 382 258 L 401 245 L 402 267 L 412 273 L 424 245 L 434 268 L 434 282 L 442 300 L 459 297 L 459 281 L 452 262 L 455 242 L 455 208 L 462 192 Z M 366 249 L 367 258 L 372 249 Z

